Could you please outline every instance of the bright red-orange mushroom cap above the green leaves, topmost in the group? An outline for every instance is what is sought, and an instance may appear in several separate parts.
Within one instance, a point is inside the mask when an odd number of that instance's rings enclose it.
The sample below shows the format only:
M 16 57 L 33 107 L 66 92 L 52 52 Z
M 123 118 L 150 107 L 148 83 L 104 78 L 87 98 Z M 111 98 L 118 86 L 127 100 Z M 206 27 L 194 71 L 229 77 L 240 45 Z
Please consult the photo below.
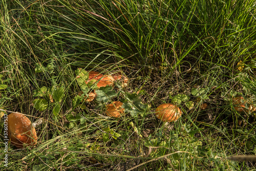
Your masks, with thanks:
M 89 72 L 89 79 L 86 81 L 86 83 L 88 84 L 89 81 L 92 80 L 96 80 L 97 82 L 97 87 L 106 87 L 106 86 L 113 86 L 114 84 L 114 77 L 111 75 L 103 75 L 100 74 L 99 72 L 95 72 L 95 71 L 90 71 Z

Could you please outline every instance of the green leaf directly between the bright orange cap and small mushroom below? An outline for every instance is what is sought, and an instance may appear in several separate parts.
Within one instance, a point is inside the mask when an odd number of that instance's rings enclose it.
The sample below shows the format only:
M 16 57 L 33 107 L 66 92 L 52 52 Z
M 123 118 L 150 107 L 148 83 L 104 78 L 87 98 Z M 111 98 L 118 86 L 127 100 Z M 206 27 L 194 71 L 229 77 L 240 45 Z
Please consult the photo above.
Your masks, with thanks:
M 117 96 L 116 91 L 113 90 L 113 88 L 109 87 L 109 86 L 101 87 L 99 90 L 95 90 L 95 93 L 97 94 L 96 100 L 103 101 L 103 103 L 106 103 L 111 98 Z

